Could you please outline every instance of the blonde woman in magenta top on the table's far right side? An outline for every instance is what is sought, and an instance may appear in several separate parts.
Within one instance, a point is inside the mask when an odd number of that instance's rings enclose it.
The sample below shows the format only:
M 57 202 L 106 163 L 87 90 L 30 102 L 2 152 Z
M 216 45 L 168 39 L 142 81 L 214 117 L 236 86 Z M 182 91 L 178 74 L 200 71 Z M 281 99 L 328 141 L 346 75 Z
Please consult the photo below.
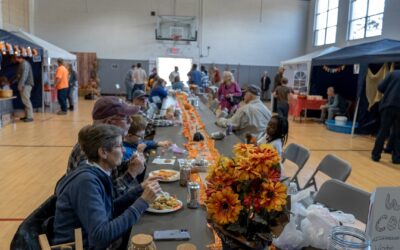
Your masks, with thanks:
M 235 101 L 234 97 L 241 97 L 242 91 L 239 84 L 235 82 L 235 78 L 231 72 L 224 71 L 222 77 L 223 82 L 218 88 L 217 98 L 221 111 L 227 109 L 231 113 L 238 106 L 238 102 Z

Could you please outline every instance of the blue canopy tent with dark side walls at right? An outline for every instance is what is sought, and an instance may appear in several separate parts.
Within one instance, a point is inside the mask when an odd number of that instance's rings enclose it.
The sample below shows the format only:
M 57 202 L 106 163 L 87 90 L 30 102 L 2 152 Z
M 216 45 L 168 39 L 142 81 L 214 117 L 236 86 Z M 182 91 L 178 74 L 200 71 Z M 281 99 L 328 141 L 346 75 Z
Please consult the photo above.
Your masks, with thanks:
M 353 120 L 357 121 L 357 133 L 372 133 L 378 125 L 377 105 L 368 110 L 366 97 L 366 76 L 368 68 L 379 69 L 383 63 L 400 61 L 400 41 L 383 39 L 374 42 L 344 47 L 312 60 L 310 93 L 325 95 L 329 86 L 348 100 L 357 101 Z M 359 72 L 354 72 L 354 65 L 359 65 Z M 336 72 L 335 72 L 336 70 Z

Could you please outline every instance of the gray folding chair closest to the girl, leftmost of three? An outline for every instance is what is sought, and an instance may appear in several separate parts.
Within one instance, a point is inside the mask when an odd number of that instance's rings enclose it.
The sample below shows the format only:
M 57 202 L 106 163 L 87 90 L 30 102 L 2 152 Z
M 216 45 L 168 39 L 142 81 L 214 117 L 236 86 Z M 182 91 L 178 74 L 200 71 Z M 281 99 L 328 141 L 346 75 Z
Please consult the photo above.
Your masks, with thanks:
M 300 170 L 306 165 L 306 162 L 310 158 L 310 151 L 303 146 L 300 146 L 295 143 L 289 144 L 285 152 L 283 153 L 283 161 L 289 160 L 296 164 L 298 167 L 296 173 L 290 179 L 290 182 L 295 182 L 297 185 L 297 190 L 300 190 L 299 180 L 297 178 Z

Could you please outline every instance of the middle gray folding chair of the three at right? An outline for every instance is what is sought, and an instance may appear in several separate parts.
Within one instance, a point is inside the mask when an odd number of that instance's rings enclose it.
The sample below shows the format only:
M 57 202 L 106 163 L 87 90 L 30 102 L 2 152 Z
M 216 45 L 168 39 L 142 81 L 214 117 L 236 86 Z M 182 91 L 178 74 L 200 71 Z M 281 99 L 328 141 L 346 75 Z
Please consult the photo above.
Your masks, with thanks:
M 303 189 L 314 186 L 315 191 L 318 190 L 317 183 L 315 181 L 315 175 L 318 172 L 322 172 L 332 179 L 345 182 L 351 173 L 351 166 L 344 160 L 337 156 L 328 154 L 319 163 L 317 169 L 312 174 L 311 178 L 306 182 Z

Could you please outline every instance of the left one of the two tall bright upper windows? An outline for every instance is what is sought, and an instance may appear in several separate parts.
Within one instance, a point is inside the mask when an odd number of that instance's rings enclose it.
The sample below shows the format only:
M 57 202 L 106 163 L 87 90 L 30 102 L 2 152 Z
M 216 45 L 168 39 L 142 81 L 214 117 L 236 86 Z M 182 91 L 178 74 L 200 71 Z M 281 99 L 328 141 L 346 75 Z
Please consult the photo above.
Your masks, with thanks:
M 339 0 L 318 0 L 316 5 L 314 45 L 321 46 L 336 42 Z

